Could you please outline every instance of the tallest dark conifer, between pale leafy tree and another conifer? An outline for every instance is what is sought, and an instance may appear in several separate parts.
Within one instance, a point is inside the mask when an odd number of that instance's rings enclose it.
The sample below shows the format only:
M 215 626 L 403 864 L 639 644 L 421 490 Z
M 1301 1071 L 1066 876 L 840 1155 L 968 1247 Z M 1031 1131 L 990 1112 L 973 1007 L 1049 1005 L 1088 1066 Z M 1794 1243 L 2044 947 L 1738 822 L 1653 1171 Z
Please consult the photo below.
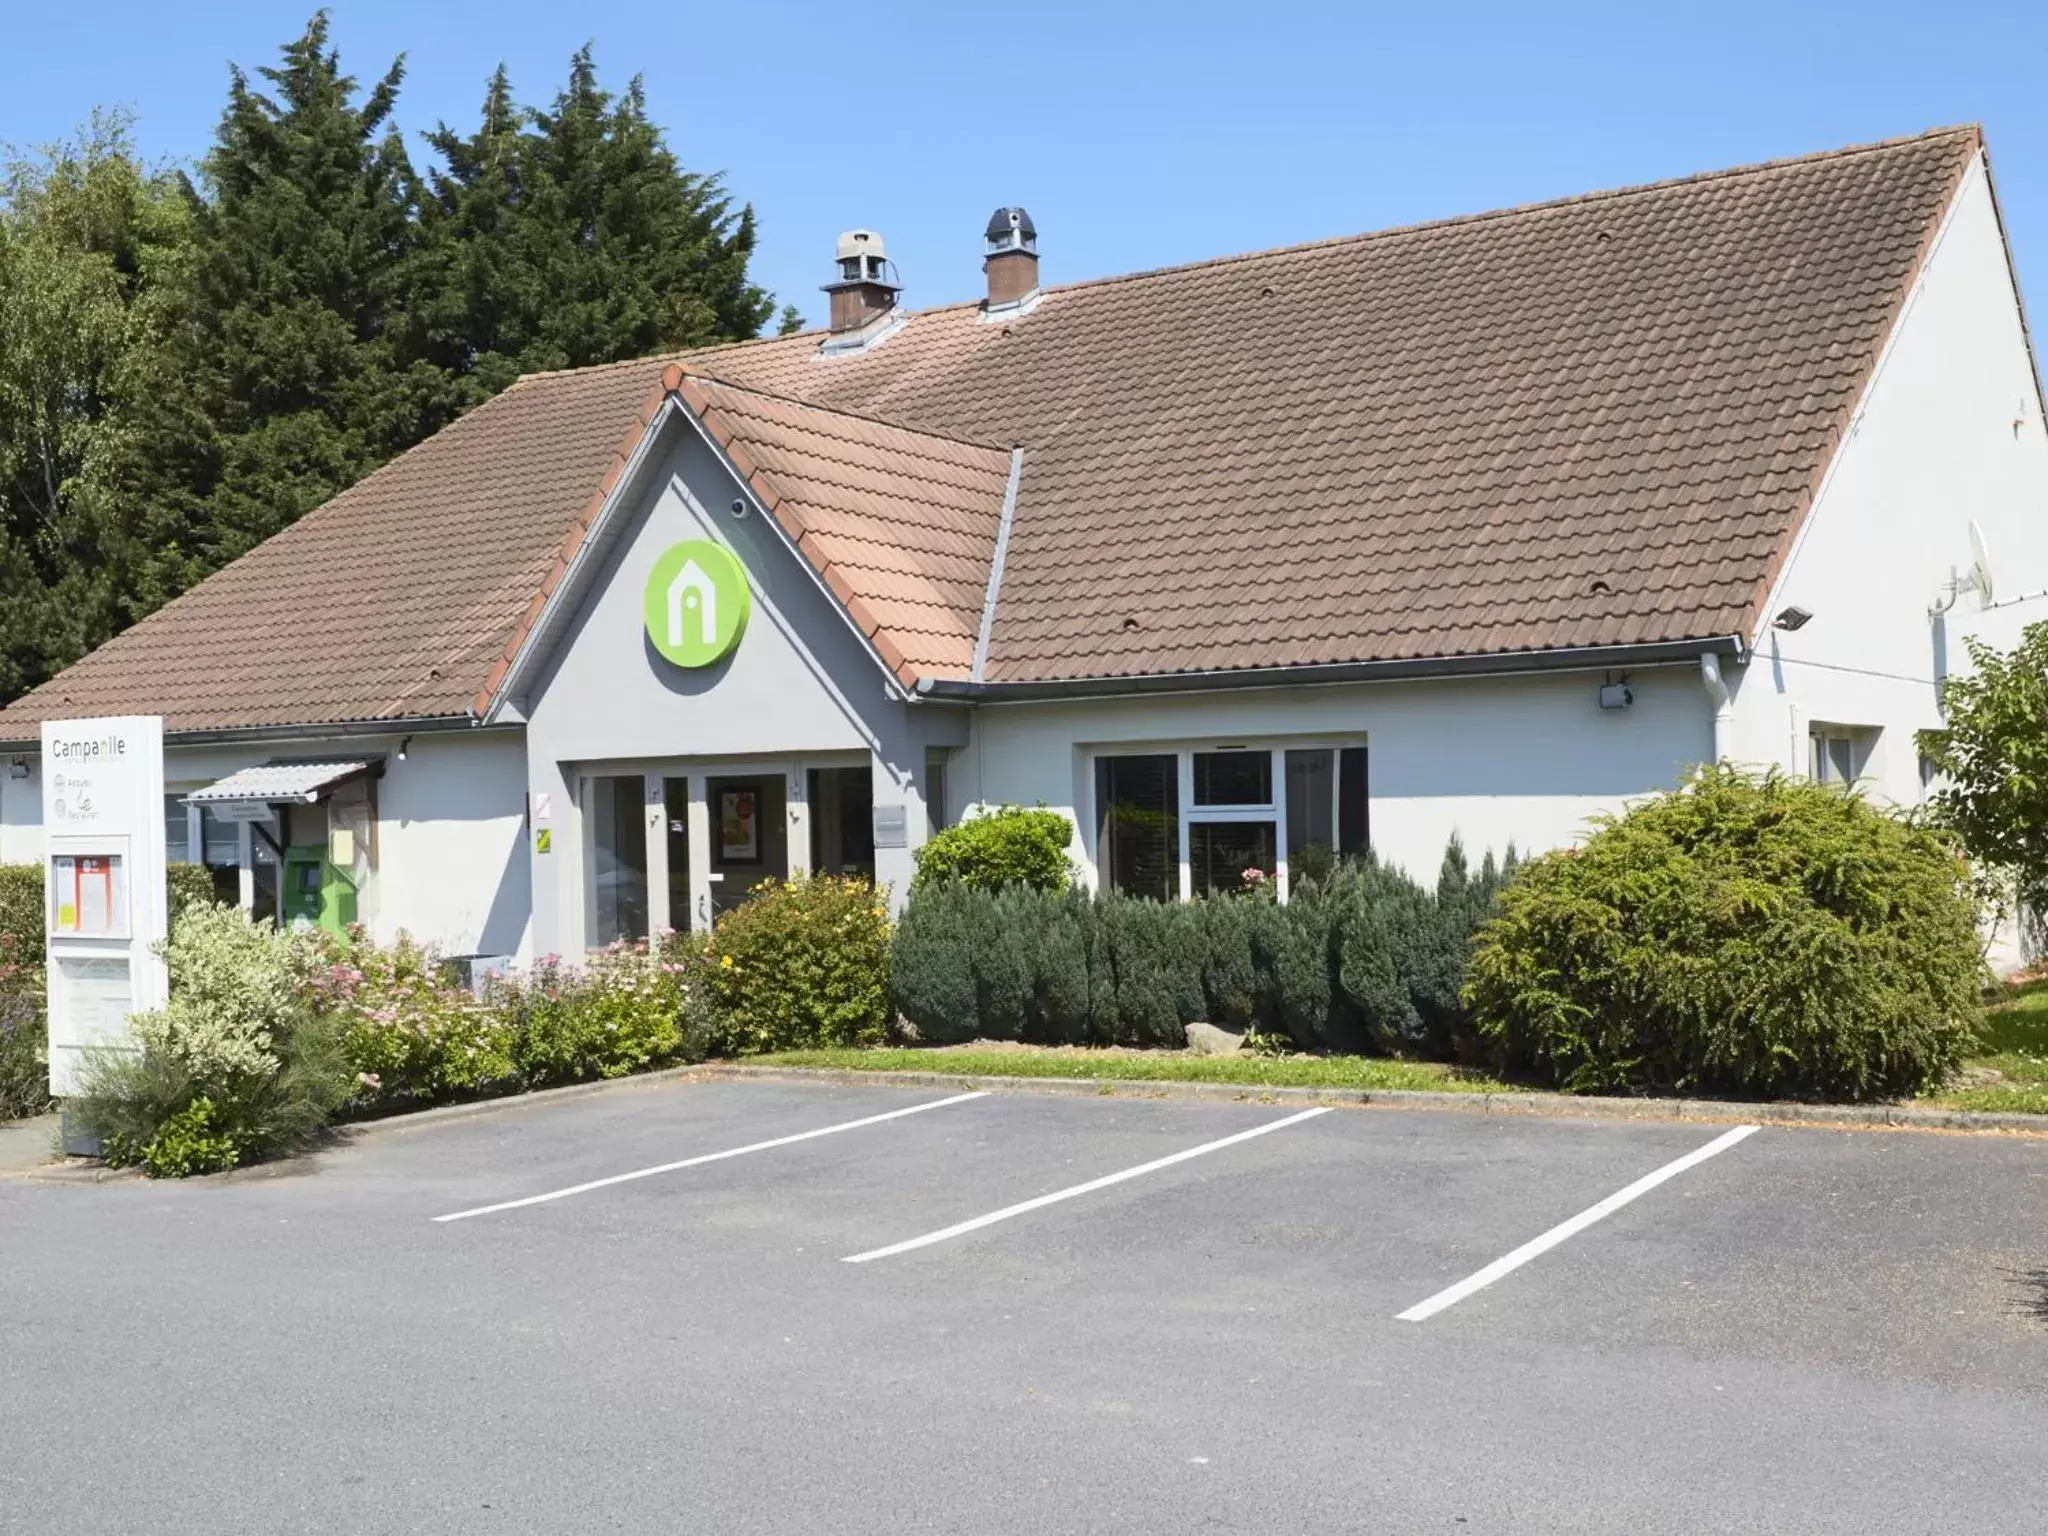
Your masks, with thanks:
M 147 610 L 457 408 L 446 375 L 399 354 L 416 180 L 391 106 L 403 59 L 360 98 L 328 14 L 227 111 L 188 186 L 195 246 L 180 324 L 137 465 L 158 561 Z

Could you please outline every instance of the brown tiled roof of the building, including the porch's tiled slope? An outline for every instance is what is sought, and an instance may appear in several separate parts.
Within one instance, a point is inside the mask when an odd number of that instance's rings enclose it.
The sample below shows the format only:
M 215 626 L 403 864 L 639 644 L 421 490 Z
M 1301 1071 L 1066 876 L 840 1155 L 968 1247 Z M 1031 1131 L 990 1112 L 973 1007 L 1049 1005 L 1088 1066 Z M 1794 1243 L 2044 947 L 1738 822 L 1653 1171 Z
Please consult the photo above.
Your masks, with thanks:
M 1745 633 L 1974 129 L 684 356 L 684 399 L 905 678 Z M 170 729 L 489 696 L 659 360 L 520 381 L 0 711 Z M 625 436 L 621 436 L 625 434 Z M 831 575 L 827 573 L 827 580 Z

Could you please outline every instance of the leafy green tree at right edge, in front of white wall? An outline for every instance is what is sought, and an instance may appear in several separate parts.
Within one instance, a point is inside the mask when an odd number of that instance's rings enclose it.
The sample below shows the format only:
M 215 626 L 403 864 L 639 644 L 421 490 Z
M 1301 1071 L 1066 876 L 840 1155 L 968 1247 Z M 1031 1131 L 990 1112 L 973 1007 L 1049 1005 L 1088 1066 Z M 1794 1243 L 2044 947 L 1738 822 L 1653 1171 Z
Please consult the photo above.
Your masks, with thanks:
M 1919 733 L 1946 780 L 1929 805 L 1970 858 L 2017 877 L 2038 905 L 2048 893 L 2048 623 L 2028 625 L 2011 651 L 1964 645 L 1972 672 L 1942 692 L 1948 725 Z

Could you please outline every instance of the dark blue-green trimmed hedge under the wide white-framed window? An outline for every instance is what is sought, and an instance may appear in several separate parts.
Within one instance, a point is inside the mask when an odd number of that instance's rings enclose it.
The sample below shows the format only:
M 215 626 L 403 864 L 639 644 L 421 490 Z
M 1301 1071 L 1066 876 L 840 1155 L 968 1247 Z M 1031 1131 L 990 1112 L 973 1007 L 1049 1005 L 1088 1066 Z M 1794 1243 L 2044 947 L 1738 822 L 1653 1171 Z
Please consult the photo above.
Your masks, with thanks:
M 1448 1057 L 1468 1028 L 1464 954 L 1505 879 L 1491 856 L 1473 874 L 1452 840 L 1436 891 L 1368 858 L 1286 905 L 926 885 L 897 926 L 895 1001 L 926 1040 L 1182 1047 L 1206 1020 Z

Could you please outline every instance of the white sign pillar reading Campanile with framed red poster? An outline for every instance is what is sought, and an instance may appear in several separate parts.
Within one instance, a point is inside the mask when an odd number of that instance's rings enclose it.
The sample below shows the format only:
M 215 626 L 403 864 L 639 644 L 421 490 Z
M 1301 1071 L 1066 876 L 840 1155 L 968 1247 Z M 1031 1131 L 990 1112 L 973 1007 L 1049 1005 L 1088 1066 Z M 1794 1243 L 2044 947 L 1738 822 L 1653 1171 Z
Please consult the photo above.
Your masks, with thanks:
M 43 930 L 49 1092 L 78 1090 L 90 1047 L 170 995 L 164 961 L 164 721 L 43 723 Z

